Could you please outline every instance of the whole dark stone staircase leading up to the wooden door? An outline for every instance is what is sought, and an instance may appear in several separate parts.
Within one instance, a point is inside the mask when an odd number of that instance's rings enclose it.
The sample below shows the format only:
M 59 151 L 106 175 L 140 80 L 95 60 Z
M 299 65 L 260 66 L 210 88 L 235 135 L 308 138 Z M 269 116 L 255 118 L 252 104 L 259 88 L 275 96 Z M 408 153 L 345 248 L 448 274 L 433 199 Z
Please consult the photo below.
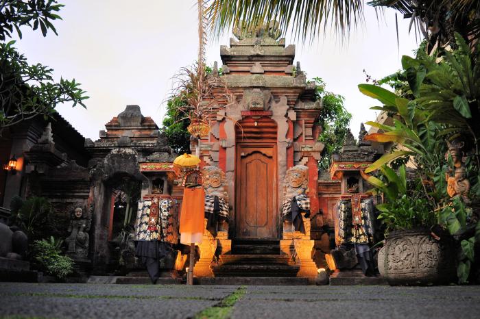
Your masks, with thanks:
M 296 277 L 300 266 L 287 255 L 280 255 L 280 241 L 234 240 L 230 254 L 220 255 L 213 266 L 213 278 L 201 284 L 216 285 L 307 285 Z

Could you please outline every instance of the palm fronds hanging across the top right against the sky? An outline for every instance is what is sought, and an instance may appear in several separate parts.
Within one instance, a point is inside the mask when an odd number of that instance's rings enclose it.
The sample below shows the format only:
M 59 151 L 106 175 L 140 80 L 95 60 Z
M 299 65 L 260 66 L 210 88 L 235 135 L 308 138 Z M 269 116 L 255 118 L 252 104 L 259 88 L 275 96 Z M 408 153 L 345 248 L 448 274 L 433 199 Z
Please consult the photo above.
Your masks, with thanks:
M 394 8 L 411 18 L 410 29 L 414 25 L 429 40 L 430 48 L 454 44 L 454 31 L 470 42 L 479 38 L 480 0 L 213 0 L 207 13 L 215 34 L 233 25 L 249 27 L 276 20 L 280 31 L 285 33 L 291 27 L 294 36 L 304 41 L 329 26 L 337 34 L 348 34 L 351 27 L 362 23 L 365 3 Z

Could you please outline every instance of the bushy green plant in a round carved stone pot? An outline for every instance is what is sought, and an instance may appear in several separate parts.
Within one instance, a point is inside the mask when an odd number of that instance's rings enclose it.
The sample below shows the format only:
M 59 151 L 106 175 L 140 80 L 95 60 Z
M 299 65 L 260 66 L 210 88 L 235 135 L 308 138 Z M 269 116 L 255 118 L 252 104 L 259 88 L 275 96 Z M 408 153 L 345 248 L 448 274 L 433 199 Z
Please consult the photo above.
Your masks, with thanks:
M 420 179 L 407 183 L 405 164 L 398 174 L 381 166 L 380 178 L 365 176 L 381 192 L 376 205 L 385 225 L 385 244 L 379 251 L 379 272 L 390 285 L 419 285 L 455 281 L 455 248 L 451 236 L 431 231 L 437 214 L 422 193 Z

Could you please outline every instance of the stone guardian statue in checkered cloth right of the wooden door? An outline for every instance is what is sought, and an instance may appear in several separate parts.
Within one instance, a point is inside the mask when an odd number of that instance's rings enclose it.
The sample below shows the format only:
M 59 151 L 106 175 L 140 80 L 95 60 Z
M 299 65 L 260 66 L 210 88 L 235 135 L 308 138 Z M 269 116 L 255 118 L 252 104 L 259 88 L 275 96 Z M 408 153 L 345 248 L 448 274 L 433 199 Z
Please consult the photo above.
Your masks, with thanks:
M 304 225 L 302 215 L 305 218 L 310 216 L 310 199 L 307 196 L 309 190 L 309 168 L 304 165 L 296 165 L 287 170 L 285 174 L 283 188 L 282 216 L 285 221 L 284 229 L 289 229 L 293 225 L 294 231 L 307 233 L 307 227 Z

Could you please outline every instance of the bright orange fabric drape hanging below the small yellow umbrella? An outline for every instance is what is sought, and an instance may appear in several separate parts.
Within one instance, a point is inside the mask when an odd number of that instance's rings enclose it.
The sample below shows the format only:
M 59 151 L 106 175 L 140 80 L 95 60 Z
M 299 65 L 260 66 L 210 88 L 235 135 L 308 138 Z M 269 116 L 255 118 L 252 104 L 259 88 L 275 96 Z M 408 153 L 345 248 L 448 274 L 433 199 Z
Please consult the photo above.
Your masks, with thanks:
M 204 188 L 184 188 L 180 215 L 180 242 L 200 244 L 204 233 Z

